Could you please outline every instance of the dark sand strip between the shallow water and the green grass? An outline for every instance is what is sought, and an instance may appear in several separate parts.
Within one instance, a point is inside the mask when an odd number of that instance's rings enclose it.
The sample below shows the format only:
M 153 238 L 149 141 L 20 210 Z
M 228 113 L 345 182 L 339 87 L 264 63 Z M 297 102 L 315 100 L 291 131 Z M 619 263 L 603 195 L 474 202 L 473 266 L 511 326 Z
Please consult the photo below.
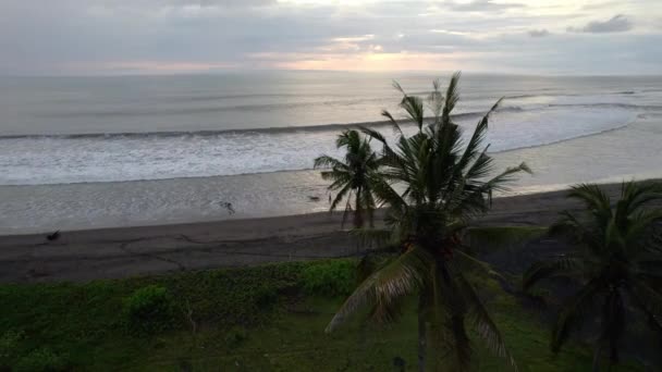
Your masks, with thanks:
M 621 184 L 604 185 L 616 195 Z M 476 221 L 480 226 L 547 226 L 578 206 L 567 190 L 504 197 Z M 85 282 L 354 256 L 355 239 L 341 213 L 64 231 L 0 237 L 0 282 Z

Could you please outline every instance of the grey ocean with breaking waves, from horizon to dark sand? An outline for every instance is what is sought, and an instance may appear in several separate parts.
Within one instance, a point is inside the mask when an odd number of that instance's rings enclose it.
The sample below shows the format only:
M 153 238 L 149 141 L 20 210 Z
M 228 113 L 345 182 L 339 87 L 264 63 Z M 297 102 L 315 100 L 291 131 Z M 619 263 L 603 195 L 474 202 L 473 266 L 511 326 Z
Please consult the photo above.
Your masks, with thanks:
M 392 80 L 426 95 L 434 77 L 450 74 L 0 77 L 0 234 L 326 210 L 312 159 L 352 124 L 392 136 Z M 461 91 L 467 132 L 505 97 L 490 150 L 535 172 L 512 193 L 662 176 L 660 76 L 465 74 Z

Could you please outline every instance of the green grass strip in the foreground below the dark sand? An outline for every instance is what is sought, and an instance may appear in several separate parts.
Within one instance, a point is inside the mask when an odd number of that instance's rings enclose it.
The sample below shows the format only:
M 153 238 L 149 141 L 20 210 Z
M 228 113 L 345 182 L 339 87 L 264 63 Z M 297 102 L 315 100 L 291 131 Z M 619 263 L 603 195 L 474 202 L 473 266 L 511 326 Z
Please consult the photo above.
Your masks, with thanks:
M 320 270 L 352 270 L 354 262 L 282 263 L 88 284 L 1 285 L 0 335 L 10 337 L 0 342 L 0 357 L 16 369 L 38 365 L 30 364 L 30 358 L 54 356 L 76 371 L 393 371 L 394 360 L 415 370 L 412 303 L 395 324 L 376 326 L 357 318 L 333 334 L 323 333 L 343 300 L 333 294 L 344 293 L 346 281 L 338 292 L 332 283 L 317 283 L 323 288 L 319 295 L 309 286 L 304 290 L 303 280 Z M 590 370 L 590 349 L 571 344 L 553 356 L 549 326 L 495 282 L 477 280 L 520 371 Z M 128 330 L 126 298 L 148 285 L 167 288 L 173 299 L 177 315 L 170 331 L 142 335 Z M 16 334 L 21 336 L 13 339 Z M 504 360 L 476 345 L 478 370 L 507 370 Z

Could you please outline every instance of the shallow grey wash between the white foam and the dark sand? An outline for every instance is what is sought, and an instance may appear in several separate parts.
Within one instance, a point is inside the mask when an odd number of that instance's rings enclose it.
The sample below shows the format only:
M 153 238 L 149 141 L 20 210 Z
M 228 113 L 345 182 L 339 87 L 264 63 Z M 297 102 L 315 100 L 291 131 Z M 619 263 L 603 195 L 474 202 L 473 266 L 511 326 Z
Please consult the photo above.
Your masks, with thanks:
M 580 182 L 661 178 L 662 169 L 655 161 L 660 128 L 659 119 L 640 119 L 625 128 L 600 135 L 494 153 L 498 170 L 522 161 L 534 170 L 532 175 L 523 175 L 502 195 L 559 190 Z M 222 162 L 214 166 L 241 165 L 233 164 Z M 319 177 L 318 171 L 242 173 L 0 186 L 0 236 L 297 215 L 326 211 L 329 207 L 328 183 Z M 236 213 L 228 215 L 221 202 L 232 203 Z

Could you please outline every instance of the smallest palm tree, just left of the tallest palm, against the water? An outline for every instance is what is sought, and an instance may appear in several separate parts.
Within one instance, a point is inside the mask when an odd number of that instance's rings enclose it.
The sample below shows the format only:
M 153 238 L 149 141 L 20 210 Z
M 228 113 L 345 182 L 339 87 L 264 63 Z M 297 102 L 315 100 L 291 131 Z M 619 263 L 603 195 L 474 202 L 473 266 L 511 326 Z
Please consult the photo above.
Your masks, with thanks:
M 315 159 L 315 168 L 331 168 L 330 171 L 321 172 L 323 179 L 331 179 L 330 190 L 340 190 L 335 199 L 331 202 L 330 211 L 346 199 L 345 211 L 343 213 L 344 225 L 348 212 L 352 210 L 352 193 L 354 193 L 354 227 L 364 226 L 364 211 L 368 215 L 370 226 L 372 226 L 372 212 L 375 210 L 375 198 L 372 196 L 371 178 L 372 173 L 378 169 L 378 157 L 370 148 L 367 138 L 355 129 L 344 131 L 338 136 L 335 146 L 346 148 L 345 158 L 339 160 L 329 156 L 321 156 Z

